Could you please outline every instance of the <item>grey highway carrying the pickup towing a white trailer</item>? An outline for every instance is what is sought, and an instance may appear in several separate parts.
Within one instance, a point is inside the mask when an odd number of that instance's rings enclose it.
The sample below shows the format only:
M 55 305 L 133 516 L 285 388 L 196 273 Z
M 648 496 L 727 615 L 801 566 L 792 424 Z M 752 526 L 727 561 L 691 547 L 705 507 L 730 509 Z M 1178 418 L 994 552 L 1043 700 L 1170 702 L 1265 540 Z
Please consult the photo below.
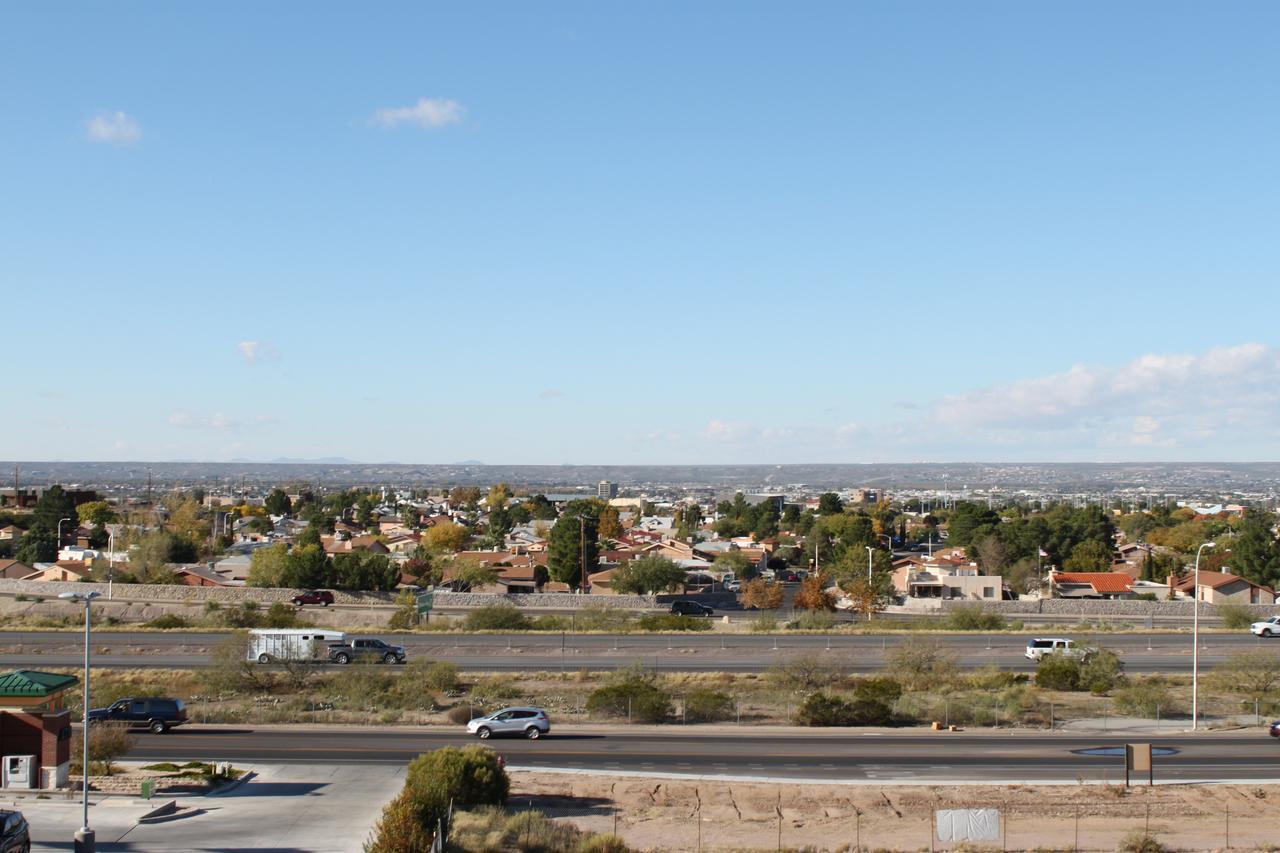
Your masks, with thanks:
M 1053 631 L 1062 635 L 1064 631 Z M 1190 663 L 1188 634 L 1075 634 L 1079 643 L 1117 651 L 1129 672 L 1180 672 Z M 940 634 L 965 667 L 1000 666 L 1029 672 L 1023 657 L 1025 634 Z M 0 666 L 78 666 L 83 640 L 78 631 L 3 631 Z M 643 662 L 664 671 L 767 670 L 801 653 L 831 654 L 852 671 L 879 669 L 893 646 L 910 634 L 892 635 L 762 635 L 762 634 L 394 634 L 410 660 L 452 661 L 468 671 L 607 670 Z M 225 642 L 218 633 L 95 631 L 93 663 L 108 667 L 198 667 L 209 665 L 210 649 Z M 1280 639 L 1263 640 L 1247 631 L 1201 634 L 1201 663 L 1212 666 L 1234 652 L 1276 648 Z

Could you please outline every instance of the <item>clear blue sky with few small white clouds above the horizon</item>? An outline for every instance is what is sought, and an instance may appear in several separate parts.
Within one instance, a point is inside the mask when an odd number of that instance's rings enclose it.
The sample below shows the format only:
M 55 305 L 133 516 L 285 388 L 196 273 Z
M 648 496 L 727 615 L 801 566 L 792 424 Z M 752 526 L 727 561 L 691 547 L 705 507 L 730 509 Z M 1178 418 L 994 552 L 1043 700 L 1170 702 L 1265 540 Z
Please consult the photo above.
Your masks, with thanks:
M 0 456 L 1275 460 L 1277 26 L 5 5 Z

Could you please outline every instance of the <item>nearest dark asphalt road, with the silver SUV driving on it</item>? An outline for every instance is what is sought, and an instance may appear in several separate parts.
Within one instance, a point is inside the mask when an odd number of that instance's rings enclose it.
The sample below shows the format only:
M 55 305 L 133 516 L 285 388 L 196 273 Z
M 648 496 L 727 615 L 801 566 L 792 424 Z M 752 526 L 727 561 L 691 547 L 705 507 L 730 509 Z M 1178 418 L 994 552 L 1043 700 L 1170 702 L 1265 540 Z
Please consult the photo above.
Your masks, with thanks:
M 1110 780 L 1124 775 L 1124 744 L 1172 751 L 1156 779 L 1280 777 L 1280 742 L 1265 733 L 1096 736 L 1047 733 L 786 733 L 777 730 L 626 731 L 559 727 L 539 740 L 490 739 L 511 767 L 861 781 Z M 237 763 L 403 765 L 439 747 L 474 743 L 460 733 L 367 729 L 191 726 L 142 734 L 129 758 Z M 1080 751 L 1111 748 L 1120 754 Z

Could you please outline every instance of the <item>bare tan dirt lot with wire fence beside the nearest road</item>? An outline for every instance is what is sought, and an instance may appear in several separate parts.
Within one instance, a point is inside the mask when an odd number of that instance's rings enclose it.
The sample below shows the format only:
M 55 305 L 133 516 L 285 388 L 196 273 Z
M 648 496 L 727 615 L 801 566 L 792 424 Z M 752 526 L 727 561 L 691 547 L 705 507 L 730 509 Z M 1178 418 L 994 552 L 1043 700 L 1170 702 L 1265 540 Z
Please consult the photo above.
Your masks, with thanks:
M 1133 831 L 1169 849 L 1280 850 L 1280 786 L 881 786 L 512 775 L 511 808 L 645 850 L 1115 850 Z M 933 812 L 996 808 L 1001 839 L 933 839 Z

